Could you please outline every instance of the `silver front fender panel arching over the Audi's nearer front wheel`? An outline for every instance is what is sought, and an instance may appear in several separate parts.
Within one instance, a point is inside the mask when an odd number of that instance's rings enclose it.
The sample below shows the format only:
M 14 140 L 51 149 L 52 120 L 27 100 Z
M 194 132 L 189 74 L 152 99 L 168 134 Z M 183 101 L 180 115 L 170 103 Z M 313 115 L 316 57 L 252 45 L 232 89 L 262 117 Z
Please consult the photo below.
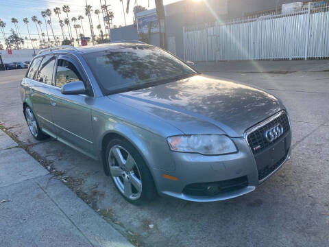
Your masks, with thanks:
M 143 156 L 151 173 L 154 168 L 175 170 L 175 162 L 166 137 L 171 134 L 182 134 L 176 128 L 161 123 L 152 116 L 143 115 L 136 109 L 112 101 L 108 97 L 97 98 L 92 119 L 97 150 L 102 150 L 103 138 L 107 134 L 119 134 L 134 145 Z M 149 126 L 143 126 L 142 122 L 149 123 Z

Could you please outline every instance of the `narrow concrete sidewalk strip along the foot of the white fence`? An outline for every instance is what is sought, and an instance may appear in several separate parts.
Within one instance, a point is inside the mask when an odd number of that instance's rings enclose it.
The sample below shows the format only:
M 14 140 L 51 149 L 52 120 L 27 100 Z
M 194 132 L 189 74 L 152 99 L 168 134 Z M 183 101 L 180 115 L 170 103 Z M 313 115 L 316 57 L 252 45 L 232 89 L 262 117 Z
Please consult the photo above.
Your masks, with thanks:
M 195 62 L 200 72 L 278 73 L 296 71 L 329 71 L 329 60 L 219 61 Z

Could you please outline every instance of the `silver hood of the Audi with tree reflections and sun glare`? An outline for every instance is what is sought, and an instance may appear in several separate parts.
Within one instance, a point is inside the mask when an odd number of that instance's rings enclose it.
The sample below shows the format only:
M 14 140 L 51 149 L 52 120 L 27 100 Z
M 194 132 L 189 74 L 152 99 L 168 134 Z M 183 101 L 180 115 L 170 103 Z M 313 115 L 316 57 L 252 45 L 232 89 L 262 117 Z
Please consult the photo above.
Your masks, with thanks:
M 118 99 L 160 117 L 185 134 L 210 133 L 216 127 L 230 137 L 243 137 L 247 128 L 283 108 L 265 91 L 201 75 L 120 93 Z

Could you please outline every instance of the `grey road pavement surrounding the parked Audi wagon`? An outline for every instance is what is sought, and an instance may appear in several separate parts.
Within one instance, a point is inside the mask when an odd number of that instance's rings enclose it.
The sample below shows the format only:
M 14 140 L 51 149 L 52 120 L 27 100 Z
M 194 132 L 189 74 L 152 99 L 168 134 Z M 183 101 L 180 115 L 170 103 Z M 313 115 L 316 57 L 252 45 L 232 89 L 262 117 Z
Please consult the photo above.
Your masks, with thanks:
M 125 202 L 99 163 L 58 141 L 32 139 L 19 96 L 24 73 L 0 72 L 0 123 L 51 169 L 73 178 L 69 187 L 119 231 L 128 231 L 135 244 L 329 246 L 329 72 L 208 73 L 282 99 L 292 121 L 291 160 L 240 198 L 211 203 L 157 198 L 143 207 Z

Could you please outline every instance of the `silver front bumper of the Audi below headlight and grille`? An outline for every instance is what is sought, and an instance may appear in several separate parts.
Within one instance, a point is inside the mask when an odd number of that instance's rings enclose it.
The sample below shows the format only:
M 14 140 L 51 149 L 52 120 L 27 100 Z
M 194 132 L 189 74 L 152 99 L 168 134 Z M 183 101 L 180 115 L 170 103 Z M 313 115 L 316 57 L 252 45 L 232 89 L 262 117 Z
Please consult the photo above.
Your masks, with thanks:
M 173 196 L 182 200 L 194 202 L 213 202 L 242 196 L 254 191 L 258 185 L 272 176 L 282 165 L 289 160 L 291 153 L 291 131 L 287 132 L 282 140 L 287 143 L 287 152 L 265 178 L 258 180 L 258 166 L 252 150 L 243 138 L 233 139 L 239 152 L 235 154 L 205 156 L 201 154 L 172 152 L 175 161 L 175 172 L 154 169 L 158 193 L 163 196 Z M 286 141 L 287 140 L 287 141 Z M 277 144 L 276 144 L 277 145 Z M 271 149 L 276 148 L 271 146 Z M 169 180 L 163 174 L 174 176 L 178 180 Z M 219 183 L 245 179 L 240 186 L 219 190 L 214 195 L 199 195 L 186 193 L 186 187 L 199 183 Z

